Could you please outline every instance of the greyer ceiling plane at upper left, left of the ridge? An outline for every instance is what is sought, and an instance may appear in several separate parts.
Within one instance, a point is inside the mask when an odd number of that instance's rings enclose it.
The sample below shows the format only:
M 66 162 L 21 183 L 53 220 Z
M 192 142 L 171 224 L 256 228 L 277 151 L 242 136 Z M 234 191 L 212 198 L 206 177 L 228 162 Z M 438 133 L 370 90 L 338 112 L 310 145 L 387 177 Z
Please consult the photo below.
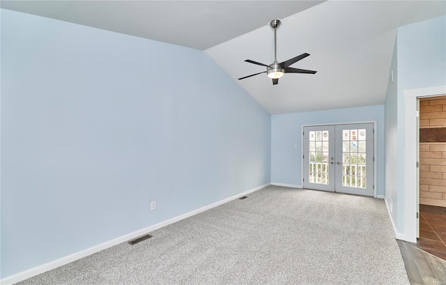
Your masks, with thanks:
M 1 0 L 1 8 L 204 50 L 322 2 Z

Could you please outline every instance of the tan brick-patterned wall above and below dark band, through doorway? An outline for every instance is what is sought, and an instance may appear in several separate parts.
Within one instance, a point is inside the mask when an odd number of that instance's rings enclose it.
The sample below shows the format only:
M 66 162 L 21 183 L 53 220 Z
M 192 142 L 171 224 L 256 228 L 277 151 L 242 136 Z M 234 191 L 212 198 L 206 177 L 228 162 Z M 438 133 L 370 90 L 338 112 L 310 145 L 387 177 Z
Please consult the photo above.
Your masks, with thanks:
M 420 128 L 446 128 L 446 97 L 420 100 Z M 446 207 L 446 142 L 420 143 L 420 203 Z

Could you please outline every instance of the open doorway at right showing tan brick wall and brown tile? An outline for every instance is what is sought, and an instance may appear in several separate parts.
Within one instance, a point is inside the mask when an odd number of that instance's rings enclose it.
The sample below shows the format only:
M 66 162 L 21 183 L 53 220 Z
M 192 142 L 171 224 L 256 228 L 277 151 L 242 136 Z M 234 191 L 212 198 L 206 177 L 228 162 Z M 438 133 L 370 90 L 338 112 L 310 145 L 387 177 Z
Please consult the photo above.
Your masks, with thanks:
M 446 95 L 419 98 L 416 247 L 446 260 Z

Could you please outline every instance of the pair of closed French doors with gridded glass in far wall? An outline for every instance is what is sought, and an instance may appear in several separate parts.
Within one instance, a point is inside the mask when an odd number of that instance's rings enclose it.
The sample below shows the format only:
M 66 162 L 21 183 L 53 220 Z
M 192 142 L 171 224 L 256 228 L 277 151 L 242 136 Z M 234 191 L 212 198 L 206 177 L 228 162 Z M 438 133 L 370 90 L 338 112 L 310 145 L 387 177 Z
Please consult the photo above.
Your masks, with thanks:
M 307 189 L 374 196 L 373 123 L 304 127 Z

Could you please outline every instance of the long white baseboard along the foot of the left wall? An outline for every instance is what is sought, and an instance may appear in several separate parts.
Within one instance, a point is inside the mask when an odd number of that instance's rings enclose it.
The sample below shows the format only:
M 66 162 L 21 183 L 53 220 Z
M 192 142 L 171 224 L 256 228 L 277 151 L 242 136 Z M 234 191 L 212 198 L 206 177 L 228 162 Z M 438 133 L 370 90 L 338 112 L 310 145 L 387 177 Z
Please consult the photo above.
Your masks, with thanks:
M 128 241 L 128 240 L 131 240 L 132 238 L 137 238 L 138 236 L 143 236 L 146 233 L 150 233 L 151 231 L 155 231 L 156 229 L 160 229 L 163 226 L 167 226 L 169 224 L 173 224 L 174 222 L 178 222 L 181 219 L 185 219 L 187 217 L 191 217 L 193 215 L 197 215 L 198 213 L 204 212 L 205 210 L 209 210 L 210 208 L 214 208 L 214 207 L 220 206 L 220 205 L 222 205 L 224 203 L 227 203 L 227 202 L 229 202 L 231 200 L 234 200 L 234 199 L 237 199 L 239 197 L 245 196 L 245 195 L 247 195 L 249 193 L 252 193 L 252 192 L 255 192 L 257 190 L 261 190 L 262 188 L 268 187 L 269 185 L 271 185 L 271 184 L 268 183 L 268 184 L 265 184 L 265 185 L 261 185 L 259 187 L 256 187 L 256 188 L 252 189 L 252 190 L 248 190 L 246 192 L 237 194 L 237 195 L 235 195 L 233 197 L 229 197 L 229 198 L 226 198 L 226 199 L 224 199 L 222 201 L 218 201 L 218 202 L 212 203 L 212 204 L 210 204 L 208 206 L 204 206 L 202 208 L 199 208 L 197 210 L 193 210 L 193 211 L 191 211 L 189 213 L 185 213 L 183 215 L 179 215 L 178 217 L 167 219 L 166 221 L 160 222 L 160 223 L 155 224 L 153 226 L 148 226 L 145 229 L 140 229 L 138 231 L 134 231 L 132 233 L 128 233 L 125 236 L 121 236 L 119 238 L 114 238 L 113 240 L 109 240 L 107 242 L 103 242 L 100 245 L 95 245 L 95 246 L 90 247 L 88 249 L 84 249 L 84 250 L 82 250 L 80 252 L 76 252 L 74 254 L 70 254 L 68 256 L 64 256 L 61 259 L 56 259 L 55 261 L 50 261 L 50 262 L 45 263 L 43 265 L 39 265 L 39 266 L 37 266 L 35 268 L 31 268 L 29 270 L 25 270 L 25 271 L 19 272 L 19 273 L 15 274 L 15 275 L 8 276 L 6 278 L 1 279 L 0 280 L 0 284 L 2 284 L 2 285 L 9 285 L 9 284 L 14 284 L 14 283 L 17 283 L 17 282 L 21 282 L 21 281 L 23 281 L 25 279 L 28 279 L 28 278 L 31 278 L 33 276 L 42 274 L 43 272 L 47 272 L 49 270 L 53 270 L 54 268 L 58 268 L 58 267 L 60 267 L 62 265 L 66 265 L 66 264 L 68 264 L 68 263 L 70 263 L 72 261 L 77 261 L 78 259 L 82 259 L 85 256 L 89 256 L 91 254 L 95 254 L 96 252 L 100 252 L 101 250 L 107 249 L 109 247 L 113 247 L 114 245 L 118 245 L 121 242 L 125 242 L 125 241 Z

